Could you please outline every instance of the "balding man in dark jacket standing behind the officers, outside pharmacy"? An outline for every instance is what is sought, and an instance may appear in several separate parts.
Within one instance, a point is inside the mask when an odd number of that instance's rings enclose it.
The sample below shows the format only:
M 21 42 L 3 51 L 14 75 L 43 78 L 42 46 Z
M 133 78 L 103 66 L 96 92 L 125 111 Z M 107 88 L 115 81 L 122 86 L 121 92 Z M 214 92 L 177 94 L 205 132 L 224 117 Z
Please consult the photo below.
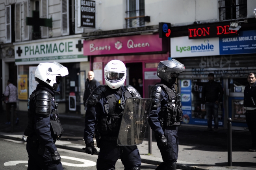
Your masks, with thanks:
M 94 79 L 94 73 L 93 71 L 89 71 L 87 74 L 87 79 L 85 82 L 85 91 L 83 94 L 83 106 L 84 106 L 84 110 L 86 110 L 86 101 L 89 97 L 89 95 L 93 92 L 93 89 L 95 89 L 96 87 L 100 86 L 100 82 L 98 82 L 97 80 Z

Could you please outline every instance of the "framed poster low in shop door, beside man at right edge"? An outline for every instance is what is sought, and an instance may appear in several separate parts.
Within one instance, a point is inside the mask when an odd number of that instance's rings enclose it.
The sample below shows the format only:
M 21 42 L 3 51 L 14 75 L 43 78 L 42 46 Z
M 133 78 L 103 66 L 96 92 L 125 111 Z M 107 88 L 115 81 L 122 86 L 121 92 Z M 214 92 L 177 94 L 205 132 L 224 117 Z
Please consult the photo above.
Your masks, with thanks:
M 246 122 L 245 112 L 246 110 L 243 107 L 243 100 L 232 100 L 232 121 L 233 122 Z

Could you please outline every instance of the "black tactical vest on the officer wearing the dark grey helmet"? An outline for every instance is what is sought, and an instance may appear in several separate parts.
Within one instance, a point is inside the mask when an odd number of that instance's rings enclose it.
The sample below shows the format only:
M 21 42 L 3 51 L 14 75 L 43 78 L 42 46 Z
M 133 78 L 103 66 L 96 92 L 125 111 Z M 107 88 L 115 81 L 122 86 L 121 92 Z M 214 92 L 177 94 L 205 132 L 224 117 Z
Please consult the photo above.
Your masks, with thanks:
M 157 85 L 168 94 L 167 106 L 161 106 L 159 115 L 165 116 L 159 117 L 161 120 L 160 124 L 163 126 L 177 125 L 177 123 L 179 124 L 182 122 L 180 94 L 176 93 L 174 88 L 168 88 L 164 84 Z

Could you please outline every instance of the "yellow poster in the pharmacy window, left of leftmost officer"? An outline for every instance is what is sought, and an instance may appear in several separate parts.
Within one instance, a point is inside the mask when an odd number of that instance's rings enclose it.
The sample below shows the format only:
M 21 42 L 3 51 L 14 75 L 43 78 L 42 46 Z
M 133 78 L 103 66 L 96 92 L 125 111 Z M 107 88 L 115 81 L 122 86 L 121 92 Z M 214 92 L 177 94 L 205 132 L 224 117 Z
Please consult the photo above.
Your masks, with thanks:
M 28 99 L 28 75 L 18 75 L 18 99 Z

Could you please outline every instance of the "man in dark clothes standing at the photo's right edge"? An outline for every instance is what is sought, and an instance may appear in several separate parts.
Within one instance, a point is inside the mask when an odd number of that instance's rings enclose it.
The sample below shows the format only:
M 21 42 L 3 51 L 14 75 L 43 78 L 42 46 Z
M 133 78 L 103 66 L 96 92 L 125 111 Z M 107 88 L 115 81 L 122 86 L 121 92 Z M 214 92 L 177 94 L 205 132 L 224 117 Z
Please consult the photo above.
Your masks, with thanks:
M 252 146 L 250 152 L 256 152 L 256 82 L 255 74 L 249 73 L 247 81 L 249 84 L 245 86 L 243 106 L 246 110 L 245 119 L 252 134 Z

